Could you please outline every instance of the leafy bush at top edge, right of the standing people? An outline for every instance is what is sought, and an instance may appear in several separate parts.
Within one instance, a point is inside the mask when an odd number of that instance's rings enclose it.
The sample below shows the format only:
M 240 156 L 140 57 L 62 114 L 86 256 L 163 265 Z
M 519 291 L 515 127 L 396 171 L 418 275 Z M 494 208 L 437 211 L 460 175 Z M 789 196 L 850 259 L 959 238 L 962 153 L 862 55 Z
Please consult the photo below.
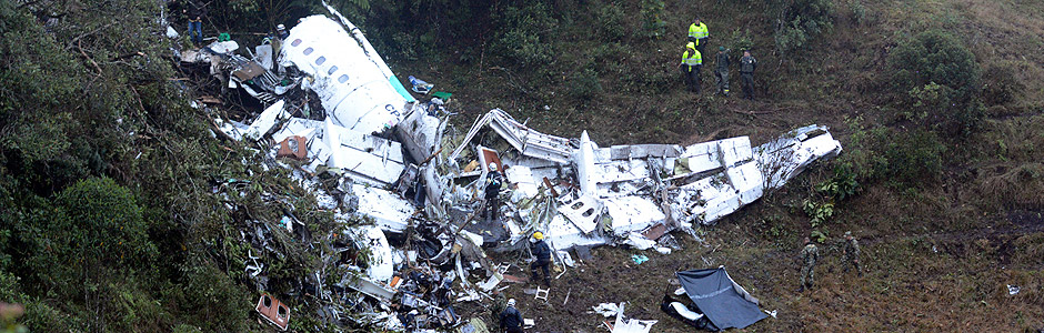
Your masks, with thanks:
M 831 0 L 780 0 L 771 6 L 779 11 L 774 39 L 782 52 L 806 48 L 820 33 L 834 27 Z

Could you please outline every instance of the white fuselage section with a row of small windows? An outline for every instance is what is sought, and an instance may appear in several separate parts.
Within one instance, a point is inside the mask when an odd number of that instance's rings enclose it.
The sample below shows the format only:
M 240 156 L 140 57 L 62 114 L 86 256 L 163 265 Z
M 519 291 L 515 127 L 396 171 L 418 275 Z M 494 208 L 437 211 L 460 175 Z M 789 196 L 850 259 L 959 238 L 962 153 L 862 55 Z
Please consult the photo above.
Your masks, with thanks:
M 408 99 L 399 94 L 374 59 L 338 22 L 324 16 L 301 19 L 280 50 L 280 63 L 295 65 L 337 124 L 363 133 L 402 120 Z M 383 63 L 383 61 L 381 61 Z

